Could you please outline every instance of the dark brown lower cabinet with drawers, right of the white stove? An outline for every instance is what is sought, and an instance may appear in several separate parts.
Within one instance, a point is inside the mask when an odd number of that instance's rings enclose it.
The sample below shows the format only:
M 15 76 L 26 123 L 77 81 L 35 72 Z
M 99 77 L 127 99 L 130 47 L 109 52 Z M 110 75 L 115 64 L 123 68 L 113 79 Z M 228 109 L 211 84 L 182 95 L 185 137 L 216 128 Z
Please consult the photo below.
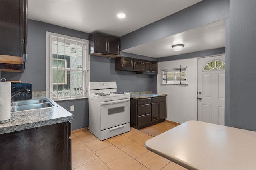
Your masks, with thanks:
M 141 129 L 165 121 L 166 96 L 131 99 L 131 126 Z

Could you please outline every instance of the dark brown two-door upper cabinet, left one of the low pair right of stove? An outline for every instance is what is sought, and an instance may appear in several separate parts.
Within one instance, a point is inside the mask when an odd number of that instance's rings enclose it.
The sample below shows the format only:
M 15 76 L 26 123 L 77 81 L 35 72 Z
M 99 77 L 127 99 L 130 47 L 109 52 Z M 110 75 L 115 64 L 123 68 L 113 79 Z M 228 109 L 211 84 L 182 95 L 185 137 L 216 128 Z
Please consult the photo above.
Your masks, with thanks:
M 116 70 L 142 72 L 143 60 L 130 57 L 117 57 Z

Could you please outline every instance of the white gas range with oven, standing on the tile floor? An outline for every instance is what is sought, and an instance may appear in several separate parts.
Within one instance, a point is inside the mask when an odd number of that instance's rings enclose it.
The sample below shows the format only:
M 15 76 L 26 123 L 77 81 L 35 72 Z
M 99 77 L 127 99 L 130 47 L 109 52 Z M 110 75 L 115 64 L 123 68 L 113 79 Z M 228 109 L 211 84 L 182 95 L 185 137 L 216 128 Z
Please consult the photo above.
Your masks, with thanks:
M 101 141 L 130 131 L 130 94 L 116 82 L 89 82 L 89 129 Z

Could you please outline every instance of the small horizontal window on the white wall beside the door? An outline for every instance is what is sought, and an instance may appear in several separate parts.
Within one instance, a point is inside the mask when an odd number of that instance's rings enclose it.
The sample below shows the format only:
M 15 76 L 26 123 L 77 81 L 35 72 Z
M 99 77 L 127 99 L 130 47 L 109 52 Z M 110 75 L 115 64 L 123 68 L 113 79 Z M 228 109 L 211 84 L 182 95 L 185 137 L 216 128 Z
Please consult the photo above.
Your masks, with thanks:
M 165 68 L 162 69 L 162 84 L 188 84 L 188 68 Z

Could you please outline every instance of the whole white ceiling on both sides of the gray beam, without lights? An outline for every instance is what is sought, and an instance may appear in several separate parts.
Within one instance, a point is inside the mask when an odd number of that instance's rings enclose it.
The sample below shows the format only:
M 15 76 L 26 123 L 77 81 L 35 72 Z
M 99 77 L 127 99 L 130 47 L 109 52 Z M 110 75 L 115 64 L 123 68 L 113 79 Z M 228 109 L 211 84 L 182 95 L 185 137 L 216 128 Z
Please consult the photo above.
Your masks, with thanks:
M 120 37 L 160 20 L 202 0 L 28 0 L 28 18 L 86 33 L 99 32 Z M 124 12 L 127 17 L 118 19 Z M 198 29 L 124 50 L 149 57 L 177 55 L 170 46 L 185 44 L 178 54 L 225 46 L 225 23 Z M 121 42 L 122 43 L 122 42 Z

